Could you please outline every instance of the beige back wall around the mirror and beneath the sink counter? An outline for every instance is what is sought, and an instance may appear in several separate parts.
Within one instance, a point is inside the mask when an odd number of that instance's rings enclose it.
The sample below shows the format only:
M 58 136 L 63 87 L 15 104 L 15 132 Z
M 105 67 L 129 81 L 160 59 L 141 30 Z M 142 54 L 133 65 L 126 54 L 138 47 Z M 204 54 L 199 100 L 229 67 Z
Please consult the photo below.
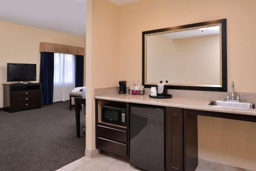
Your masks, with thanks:
M 141 0 L 121 6 L 118 57 L 125 72 L 119 79 L 141 80 L 142 31 L 227 18 L 228 82 L 238 92 L 256 93 L 255 6 L 254 0 Z M 200 117 L 199 157 L 255 170 L 255 129 L 254 123 Z

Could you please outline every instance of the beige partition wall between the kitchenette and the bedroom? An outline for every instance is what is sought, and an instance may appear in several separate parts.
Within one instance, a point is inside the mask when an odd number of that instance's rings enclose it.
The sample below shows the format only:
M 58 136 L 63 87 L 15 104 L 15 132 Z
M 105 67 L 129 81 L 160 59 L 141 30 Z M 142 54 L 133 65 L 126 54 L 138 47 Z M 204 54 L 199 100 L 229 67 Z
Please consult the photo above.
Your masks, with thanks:
M 105 0 L 87 0 L 86 155 L 95 150 L 94 89 L 117 82 L 118 7 Z

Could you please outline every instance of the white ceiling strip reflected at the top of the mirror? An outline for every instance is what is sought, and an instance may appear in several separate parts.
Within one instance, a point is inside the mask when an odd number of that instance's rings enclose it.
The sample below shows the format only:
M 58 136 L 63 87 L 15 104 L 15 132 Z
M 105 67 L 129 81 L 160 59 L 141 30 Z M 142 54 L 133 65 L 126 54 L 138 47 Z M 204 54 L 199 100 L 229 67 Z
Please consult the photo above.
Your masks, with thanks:
M 199 37 L 199 36 L 207 36 L 207 35 L 215 35 L 215 34 L 220 34 L 220 26 L 177 31 L 172 33 L 165 33 L 164 35 L 172 39 L 179 39 L 179 38 Z

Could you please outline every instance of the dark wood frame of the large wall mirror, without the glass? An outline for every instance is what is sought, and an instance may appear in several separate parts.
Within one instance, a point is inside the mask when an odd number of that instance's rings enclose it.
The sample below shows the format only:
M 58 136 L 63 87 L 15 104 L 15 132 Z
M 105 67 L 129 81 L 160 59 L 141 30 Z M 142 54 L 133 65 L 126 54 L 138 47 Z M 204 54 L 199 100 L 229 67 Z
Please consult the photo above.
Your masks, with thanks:
M 179 90 L 200 90 L 200 91 L 218 91 L 218 92 L 226 92 L 227 91 L 227 26 L 226 19 L 218 19 L 212 20 L 209 22 L 195 23 L 183 26 L 169 27 L 164 29 L 150 30 L 142 32 L 142 85 L 145 88 L 154 87 L 154 84 L 145 84 L 145 35 L 152 33 L 160 33 L 172 30 L 180 30 L 187 29 L 193 27 L 207 26 L 221 24 L 221 60 L 222 60 L 222 87 L 201 87 L 201 86 L 170 86 L 168 85 L 168 89 L 179 89 Z

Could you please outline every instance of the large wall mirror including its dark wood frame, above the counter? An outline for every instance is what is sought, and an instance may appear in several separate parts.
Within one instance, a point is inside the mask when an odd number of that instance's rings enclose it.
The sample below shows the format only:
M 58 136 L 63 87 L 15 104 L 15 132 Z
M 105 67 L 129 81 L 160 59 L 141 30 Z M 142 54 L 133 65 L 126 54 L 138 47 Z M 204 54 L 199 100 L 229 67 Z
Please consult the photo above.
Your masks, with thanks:
M 227 91 L 226 19 L 142 32 L 142 83 Z

